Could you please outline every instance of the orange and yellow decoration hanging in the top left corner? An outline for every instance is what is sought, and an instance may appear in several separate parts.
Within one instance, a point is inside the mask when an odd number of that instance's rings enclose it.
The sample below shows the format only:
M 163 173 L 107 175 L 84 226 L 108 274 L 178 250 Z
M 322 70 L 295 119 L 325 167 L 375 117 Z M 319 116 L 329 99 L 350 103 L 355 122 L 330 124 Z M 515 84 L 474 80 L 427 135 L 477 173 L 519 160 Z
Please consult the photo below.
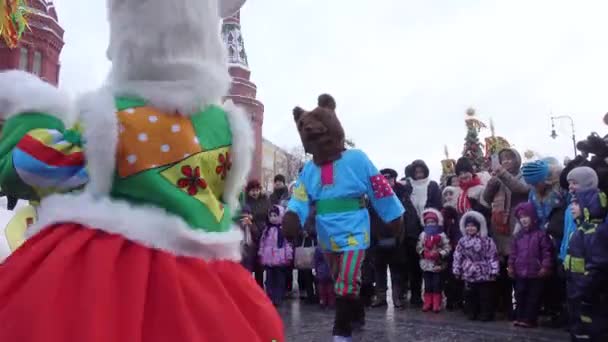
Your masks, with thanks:
M 0 37 L 9 48 L 17 47 L 27 25 L 25 0 L 0 0 Z

